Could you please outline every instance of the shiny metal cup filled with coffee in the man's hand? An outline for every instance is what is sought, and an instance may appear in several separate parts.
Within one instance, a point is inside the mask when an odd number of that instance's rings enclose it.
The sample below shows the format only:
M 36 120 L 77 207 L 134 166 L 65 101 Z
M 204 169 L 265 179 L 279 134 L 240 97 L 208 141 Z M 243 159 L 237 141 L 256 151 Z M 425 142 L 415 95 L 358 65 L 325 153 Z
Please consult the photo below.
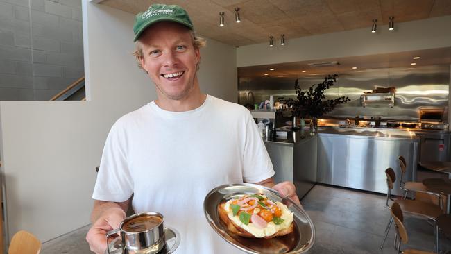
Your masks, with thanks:
M 107 232 L 108 253 L 110 253 L 108 239 L 119 233 L 122 253 L 158 253 L 165 244 L 163 219 L 163 215 L 159 212 L 142 212 L 127 217 L 119 228 Z

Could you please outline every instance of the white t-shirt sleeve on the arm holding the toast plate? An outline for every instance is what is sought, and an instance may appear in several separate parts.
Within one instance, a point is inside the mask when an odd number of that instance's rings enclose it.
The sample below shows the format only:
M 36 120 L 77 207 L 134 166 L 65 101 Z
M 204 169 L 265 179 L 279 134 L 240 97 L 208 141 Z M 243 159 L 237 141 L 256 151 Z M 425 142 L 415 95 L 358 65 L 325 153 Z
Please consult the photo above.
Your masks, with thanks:
M 243 180 L 258 183 L 274 176 L 273 164 L 250 112 L 246 112 L 245 125 Z

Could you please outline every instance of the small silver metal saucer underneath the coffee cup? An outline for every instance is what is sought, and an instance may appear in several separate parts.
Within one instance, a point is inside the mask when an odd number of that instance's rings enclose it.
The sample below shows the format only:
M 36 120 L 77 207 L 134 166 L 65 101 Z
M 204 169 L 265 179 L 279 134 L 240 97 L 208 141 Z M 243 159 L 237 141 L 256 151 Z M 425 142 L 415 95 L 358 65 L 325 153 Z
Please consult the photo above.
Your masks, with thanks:
M 176 251 L 178 245 L 180 244 L 180 233 L 173 228 L 164 228 L 164 248 L 155 254 L 171 254 Z M 128 251 L 122 253 L 122 242 L 121 237 L 116 237 L 110 244 L 108 244 L 110 249 L 110 254 L 128 254 Z M 108 253 L 108 251 L 105 251 Z M 138 253 L 138 252 L 137 252 Z

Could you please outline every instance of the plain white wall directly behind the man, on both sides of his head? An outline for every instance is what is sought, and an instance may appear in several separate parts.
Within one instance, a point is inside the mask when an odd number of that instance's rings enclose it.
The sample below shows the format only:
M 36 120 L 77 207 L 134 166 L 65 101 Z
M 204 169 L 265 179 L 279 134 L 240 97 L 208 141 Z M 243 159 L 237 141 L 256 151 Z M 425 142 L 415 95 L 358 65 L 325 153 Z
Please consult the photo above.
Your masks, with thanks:
M 133 15 L 83 0 L 87 98 L 1 101 L 0 158 L 9 235 L 28 230 L 45 242 L 87 225 L 92 189 L 110 126 L 155 99 L 137 69 Z M 207 40 L 199 80 L 204 92 L 237 100 L 235 48 Z

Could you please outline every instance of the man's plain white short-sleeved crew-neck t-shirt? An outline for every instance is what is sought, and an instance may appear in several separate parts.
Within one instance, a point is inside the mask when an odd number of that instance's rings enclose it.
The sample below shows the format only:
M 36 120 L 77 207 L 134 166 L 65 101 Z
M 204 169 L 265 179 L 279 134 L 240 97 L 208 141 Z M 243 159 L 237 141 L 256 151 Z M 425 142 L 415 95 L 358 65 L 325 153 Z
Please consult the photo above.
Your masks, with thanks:
M 176 253 L 241 253 L 214 232 L 203 199 L 226 183 L 257 183 L 274 175 L 250 112 L 207 95 L 199 108 L 162 110 L 155 102 L 121 117 L 103 149 L 92 198 L 126 201 L 156 211 L 181 235 Z

